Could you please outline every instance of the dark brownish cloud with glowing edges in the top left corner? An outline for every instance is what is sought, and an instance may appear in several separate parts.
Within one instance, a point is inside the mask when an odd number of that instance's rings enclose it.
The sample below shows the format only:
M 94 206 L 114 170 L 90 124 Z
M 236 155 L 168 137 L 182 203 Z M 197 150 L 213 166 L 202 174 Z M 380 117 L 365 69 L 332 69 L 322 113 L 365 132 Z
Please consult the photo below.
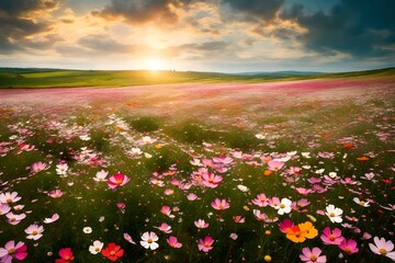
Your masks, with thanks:
M 0 0 L 0 54 L 25 49 L 30 43 L 26 36 L 48 30 L 47 24 L 36 23 L 22 15 L 50 10 L 56 4 L 54 0 Z

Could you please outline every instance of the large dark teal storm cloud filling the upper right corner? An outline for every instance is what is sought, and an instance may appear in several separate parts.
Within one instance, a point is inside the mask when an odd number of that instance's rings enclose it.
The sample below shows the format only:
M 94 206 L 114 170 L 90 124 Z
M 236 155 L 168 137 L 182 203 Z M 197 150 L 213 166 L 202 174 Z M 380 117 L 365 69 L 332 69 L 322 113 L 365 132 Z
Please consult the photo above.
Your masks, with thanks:
M 312 50 L 332 55 L 336 52 L 353 57 L 386 56 L 395 44 L 395 1 L 342 0 L 328 12 L 307 14 L 294 5 L 283 18 L 295 19 L 308 30 L 300 41 Z

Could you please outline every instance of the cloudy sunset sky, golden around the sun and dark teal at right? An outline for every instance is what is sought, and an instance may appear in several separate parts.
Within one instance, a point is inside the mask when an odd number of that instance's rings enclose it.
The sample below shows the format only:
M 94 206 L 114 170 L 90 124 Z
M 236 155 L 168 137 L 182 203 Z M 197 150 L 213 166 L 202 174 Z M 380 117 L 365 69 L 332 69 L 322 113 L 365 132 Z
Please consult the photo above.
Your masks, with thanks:
M 0 67 L 394 67 L 394 0 L 0 0 Z

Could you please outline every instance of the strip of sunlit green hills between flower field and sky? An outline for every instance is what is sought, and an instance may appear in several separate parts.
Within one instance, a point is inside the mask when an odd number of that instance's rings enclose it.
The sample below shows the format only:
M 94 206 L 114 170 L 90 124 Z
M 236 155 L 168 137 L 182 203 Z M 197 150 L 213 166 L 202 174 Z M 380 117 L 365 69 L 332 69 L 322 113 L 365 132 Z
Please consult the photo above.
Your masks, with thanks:
M 0 68 L 0 88 L 126 87 L 166 83 L 259 83 L 323 78 L 395 78 L 395 68 L 357 72 L 323 73 L 276 71 L 218 73 L 148 70 L 69 70 L 40 68 Z

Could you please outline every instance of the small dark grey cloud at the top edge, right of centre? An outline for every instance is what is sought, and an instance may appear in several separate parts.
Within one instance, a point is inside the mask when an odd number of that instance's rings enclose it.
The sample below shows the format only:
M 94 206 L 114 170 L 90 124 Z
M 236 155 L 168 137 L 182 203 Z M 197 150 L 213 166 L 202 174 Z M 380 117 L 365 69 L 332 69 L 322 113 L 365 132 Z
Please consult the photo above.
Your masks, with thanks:
M 233 16 L 233 13 L 226 13 L 225 15 L 230 19 L 237 18 L 246 21 L 266 20 L 270 21 L 275 18 L 276 13 L 283 5 L 284 0 L 223 0 L 222 5 L 228 5 L 230 11 L 237 14 Z M 241 14 L 242 16 L 240 18 Z M 226 18 L 225 18 L 226 19 Z

